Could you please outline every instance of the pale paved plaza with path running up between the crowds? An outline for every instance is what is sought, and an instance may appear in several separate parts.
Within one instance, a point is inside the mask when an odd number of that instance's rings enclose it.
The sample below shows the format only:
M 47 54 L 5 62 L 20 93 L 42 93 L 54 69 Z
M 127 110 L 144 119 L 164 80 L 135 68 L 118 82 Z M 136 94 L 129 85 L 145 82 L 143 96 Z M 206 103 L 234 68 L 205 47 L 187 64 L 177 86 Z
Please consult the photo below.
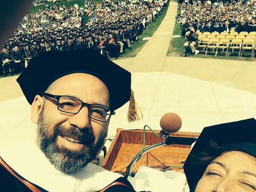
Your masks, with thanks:
M 190 132 L 256 117 L 256 62 L 166 56 L 176 13 L 177 3 L 171 2 L 163 22 L 138 55 L 114 61 L 132 73 L 132 89 L 144 118 L 129 124 L 125 104 L 112 117 L 108 136 L 120 127 L 142 129 L 148 124 L 160 129 L 160 118 L 167 112 L 179 114 L 181 131 Z M 16 78 L 0 79 L 0 148 L 35 137 L 30 105 Z

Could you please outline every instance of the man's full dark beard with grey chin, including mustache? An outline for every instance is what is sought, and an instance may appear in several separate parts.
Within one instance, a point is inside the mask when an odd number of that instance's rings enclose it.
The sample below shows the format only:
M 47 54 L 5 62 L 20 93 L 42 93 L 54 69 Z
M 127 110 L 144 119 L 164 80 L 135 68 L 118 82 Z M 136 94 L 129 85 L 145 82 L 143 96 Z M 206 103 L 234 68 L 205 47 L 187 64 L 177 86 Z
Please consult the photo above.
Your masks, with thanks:
M 37 126 L 37 142 L 39 148 L 56 169 L 67 174 L 78 172 L 95 159 L 104 143 L 103 135 L 94 144 L 94 135 L 88 131 L 82 133 L 77 127 L 65 128 L 57 125 L 52 134 L 49 134 L 48 130 L 49 125 L 44 121 L 42 110 L 39 114 Z M 75 138 L 75 140 L 79 140 L 80 143 L 85 145 L 86 148 L 81 151 L 72 151 L 64 146 L 58 146 L 56 143 L 58 136 Z

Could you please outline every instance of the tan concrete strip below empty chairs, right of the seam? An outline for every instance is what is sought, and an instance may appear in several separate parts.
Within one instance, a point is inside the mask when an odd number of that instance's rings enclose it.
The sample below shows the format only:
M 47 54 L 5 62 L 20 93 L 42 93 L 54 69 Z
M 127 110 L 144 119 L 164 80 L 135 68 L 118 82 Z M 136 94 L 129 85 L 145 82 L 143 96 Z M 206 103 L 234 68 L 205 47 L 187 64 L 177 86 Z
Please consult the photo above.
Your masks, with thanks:
M 163 71 L 256 93 L 256 62 L 167 56 Z

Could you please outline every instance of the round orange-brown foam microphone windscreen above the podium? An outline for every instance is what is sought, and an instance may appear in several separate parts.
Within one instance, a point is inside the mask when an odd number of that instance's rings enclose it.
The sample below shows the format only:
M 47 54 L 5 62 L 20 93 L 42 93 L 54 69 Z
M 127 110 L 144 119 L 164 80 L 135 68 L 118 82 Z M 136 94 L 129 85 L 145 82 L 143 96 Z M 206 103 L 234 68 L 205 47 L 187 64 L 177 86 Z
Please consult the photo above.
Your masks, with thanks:
M 175 133 L 181 129 L 181 117 L 175 113 L 167 113 L 160 120 L 160 127 L 165 133 Z

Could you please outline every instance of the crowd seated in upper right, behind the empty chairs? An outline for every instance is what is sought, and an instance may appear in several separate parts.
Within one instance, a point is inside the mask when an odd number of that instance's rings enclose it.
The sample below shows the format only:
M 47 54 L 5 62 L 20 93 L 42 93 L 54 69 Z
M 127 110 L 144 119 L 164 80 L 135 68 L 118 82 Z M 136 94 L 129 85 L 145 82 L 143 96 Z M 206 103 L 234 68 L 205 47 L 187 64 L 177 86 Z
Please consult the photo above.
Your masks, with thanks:
M 202 33 L 256 31 L 256 0 L 186 1 L 181 5 L 177 23 L 181 23 L 182 36 L 191 29 Z

